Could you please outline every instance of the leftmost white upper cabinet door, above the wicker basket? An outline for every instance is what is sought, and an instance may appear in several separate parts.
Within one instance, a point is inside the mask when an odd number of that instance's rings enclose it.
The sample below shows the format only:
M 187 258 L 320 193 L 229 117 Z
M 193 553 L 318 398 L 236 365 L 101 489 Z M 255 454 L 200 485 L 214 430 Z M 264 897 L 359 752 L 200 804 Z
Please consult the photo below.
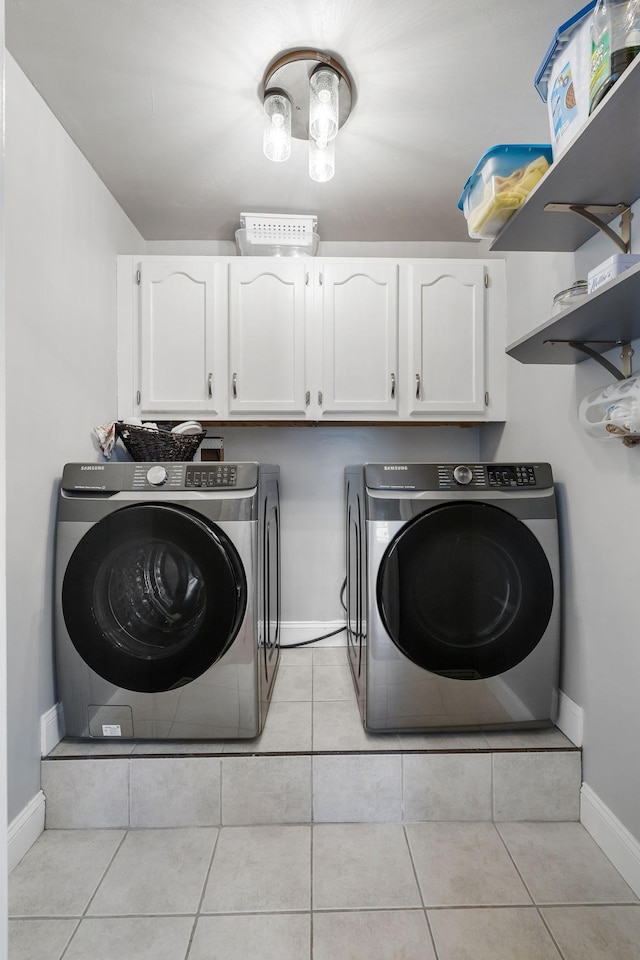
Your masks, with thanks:
M 138 270 L 140 414 L 219 414 L 216 313 L 226 295 L 224 268 L 210 257 L 149 257 Z

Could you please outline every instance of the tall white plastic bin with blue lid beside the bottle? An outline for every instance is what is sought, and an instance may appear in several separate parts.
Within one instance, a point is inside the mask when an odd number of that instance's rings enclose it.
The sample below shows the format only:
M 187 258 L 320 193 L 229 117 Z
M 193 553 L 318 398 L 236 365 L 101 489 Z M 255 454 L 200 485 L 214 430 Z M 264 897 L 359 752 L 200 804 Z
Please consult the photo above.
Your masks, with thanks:
M 558 27 L 534 81 L 547 104 L 554 159 L 589 119 L 590 29 L 595 6 L 593 0 Z

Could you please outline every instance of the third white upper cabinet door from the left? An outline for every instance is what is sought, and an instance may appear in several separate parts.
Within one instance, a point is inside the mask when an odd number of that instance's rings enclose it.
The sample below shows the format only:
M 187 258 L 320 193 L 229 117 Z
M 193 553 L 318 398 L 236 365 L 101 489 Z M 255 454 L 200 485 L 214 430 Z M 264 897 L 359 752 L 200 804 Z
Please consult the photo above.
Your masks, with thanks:
M 398 265 L 375 260 L 318 266 L 324 413 L 397 413 Z

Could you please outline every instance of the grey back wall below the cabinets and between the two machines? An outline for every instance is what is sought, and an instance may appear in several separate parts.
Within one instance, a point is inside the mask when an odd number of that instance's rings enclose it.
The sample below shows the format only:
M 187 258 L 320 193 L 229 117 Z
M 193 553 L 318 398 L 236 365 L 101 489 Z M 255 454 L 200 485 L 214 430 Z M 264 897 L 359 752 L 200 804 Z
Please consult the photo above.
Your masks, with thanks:
M 282 619 L 343 620 L 344 468 L 376 460 L 475 460 L 482 427 L 234 427 L 226 460 L 278 463 Z M 287 642 L 290 642 L 287 640 Z

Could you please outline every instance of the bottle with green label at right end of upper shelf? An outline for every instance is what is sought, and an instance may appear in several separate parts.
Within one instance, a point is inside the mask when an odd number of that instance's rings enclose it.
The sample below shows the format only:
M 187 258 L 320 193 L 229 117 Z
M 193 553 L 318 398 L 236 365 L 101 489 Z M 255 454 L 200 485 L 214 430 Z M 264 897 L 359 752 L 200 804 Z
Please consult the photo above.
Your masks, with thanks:
M 589 113 L 640 51 L 640 0 L 598 0 L 591 23 Z

